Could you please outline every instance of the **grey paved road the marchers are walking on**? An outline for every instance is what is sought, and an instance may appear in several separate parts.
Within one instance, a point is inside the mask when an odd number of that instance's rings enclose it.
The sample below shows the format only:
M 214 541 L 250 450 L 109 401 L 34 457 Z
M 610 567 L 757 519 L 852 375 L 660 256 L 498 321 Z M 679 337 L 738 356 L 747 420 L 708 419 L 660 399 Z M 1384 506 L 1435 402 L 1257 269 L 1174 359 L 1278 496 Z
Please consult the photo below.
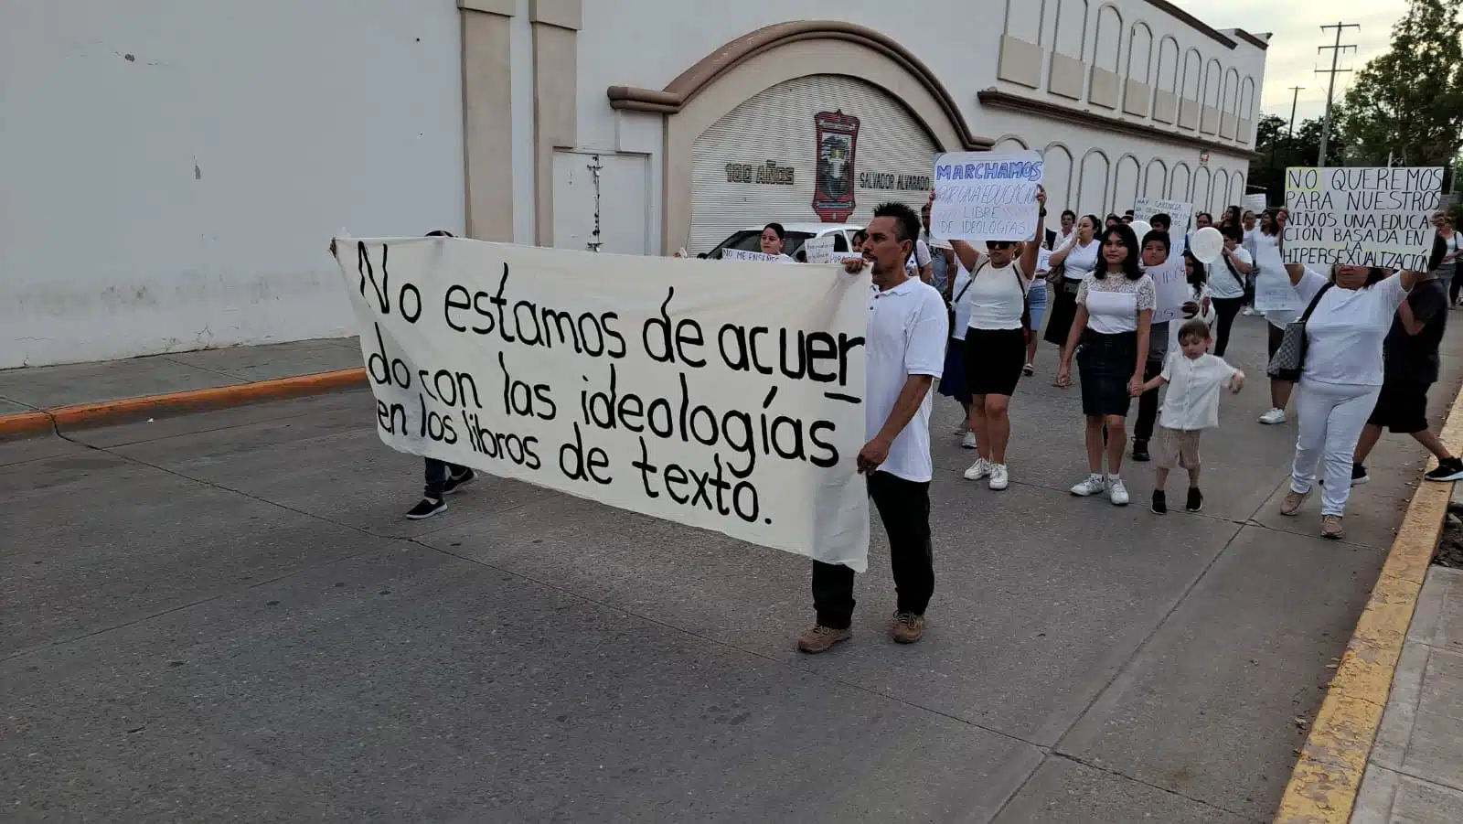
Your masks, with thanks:
M 875 528 L 819 657 L 790 555 L 496 479 L 404 521 L 366 392 L 0 443 L 0 820 L 1268 821 L 1422 454 L 1383 442 L 1346 543 L 1280 518 L 1293 429 L 1238 338 L 1203 515 L 1150 514 L 1147 467 L 1125 509 L 1067 493 L 1049 347 L 1009 490 L 942 402 L 930 631 L 888 641 Z

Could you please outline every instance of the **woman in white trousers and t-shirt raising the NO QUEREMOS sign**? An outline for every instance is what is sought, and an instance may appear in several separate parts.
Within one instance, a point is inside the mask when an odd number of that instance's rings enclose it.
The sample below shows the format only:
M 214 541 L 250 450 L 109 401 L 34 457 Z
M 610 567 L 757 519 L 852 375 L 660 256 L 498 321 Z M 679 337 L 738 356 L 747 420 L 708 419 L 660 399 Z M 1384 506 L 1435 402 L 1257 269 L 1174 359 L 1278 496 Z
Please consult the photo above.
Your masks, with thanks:
M 1295 515 L 1301 509 L 1324 458 L 1321 537 L 1340 539 L 1346 534 L 1342 517 L 1352 493 L 1356 439 L 1381 392 L 1381 344 L 1418 274 L 1337 265 L 1334 284 L 1328 284 L 1325 275 L 1299 263 L 1286 266 L 1286 272 L 1295 291 L 1314 309 L 1305 323 L 1290 493 L 1280 514 Z

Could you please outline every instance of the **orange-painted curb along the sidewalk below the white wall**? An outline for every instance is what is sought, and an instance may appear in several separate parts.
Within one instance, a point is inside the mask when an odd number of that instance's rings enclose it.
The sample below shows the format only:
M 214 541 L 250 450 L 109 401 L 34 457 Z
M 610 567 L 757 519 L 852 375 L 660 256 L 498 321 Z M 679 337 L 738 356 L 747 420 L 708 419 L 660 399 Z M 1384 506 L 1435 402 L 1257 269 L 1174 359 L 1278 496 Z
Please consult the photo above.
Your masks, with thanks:
M 48 429 L 60 429 L 63 426 L 102 426 L 107 423 L 121 423 L 123 420 L 140 417 L 143 414 L 178 414 L 187 411 L 237 407 L 259 401 L 319 395 L 335 389 L 364 385 L 366 369 L 356 367 L 339 369 L 335 372 L 317 372 L 313 375 L 297 375 L 294 378 L 255 381 L 253 383 L 238 383 L 234 386 L 211 386 L 208 389 L 189 389 L 186 392 L 168 392 L 165 395 L 143 395 L 140 398 L 123 398 L 99 404 L 54 407 L 48 410 L 0 416 L 0 438 L 29 435 Z

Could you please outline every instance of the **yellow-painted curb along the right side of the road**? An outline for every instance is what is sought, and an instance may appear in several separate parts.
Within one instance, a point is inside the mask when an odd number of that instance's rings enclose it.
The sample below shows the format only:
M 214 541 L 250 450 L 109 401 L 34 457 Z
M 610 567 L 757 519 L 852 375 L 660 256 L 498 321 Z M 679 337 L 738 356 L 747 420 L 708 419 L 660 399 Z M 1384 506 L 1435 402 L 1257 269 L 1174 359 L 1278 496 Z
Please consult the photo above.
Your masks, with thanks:
M 1463 442 L 1460 410 L 1463 391 L 1453 401 L 1441 433 L 1451 449 Z M 1428 465 L 1435 464 L 1429 461 Z M 1377 727 L 1387 708 L 1402 644 L 1407 638 L 1412 612 L 1438 547 L 1451 498 L 1451 483 L 1418 480 L 1397 539 L 1290 773 L 1274 824 L 1350 821 Z

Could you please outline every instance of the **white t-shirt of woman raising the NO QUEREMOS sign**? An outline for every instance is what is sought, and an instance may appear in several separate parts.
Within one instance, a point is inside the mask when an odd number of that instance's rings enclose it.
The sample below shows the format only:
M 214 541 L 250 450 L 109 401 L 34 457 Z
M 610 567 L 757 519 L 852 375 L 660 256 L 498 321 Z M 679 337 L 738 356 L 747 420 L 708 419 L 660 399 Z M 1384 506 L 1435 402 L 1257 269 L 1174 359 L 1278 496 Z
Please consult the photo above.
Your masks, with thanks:
M 1306 269 L 1295 291 L 1309 306 L 1324 285 L 1325 275 Z M 1407 293 L 1397 275 L 1368 288 L 1328 288 L 1305 322 L 1306 348 L 1301 381 L 1381 386 L 1381 344 L 1391 329 L 1397 307 L 1406 299 Z

